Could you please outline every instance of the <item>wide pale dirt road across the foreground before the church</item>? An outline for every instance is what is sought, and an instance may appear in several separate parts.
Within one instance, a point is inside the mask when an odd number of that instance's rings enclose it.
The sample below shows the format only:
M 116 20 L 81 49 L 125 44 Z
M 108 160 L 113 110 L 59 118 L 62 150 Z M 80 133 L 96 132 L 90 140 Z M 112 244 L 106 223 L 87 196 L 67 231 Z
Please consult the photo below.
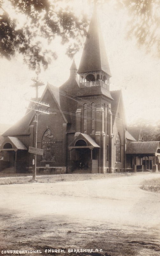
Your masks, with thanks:
M 157 176 L 0 186 L 0 253 L 159 256 L 160 195 L 139 188 Z

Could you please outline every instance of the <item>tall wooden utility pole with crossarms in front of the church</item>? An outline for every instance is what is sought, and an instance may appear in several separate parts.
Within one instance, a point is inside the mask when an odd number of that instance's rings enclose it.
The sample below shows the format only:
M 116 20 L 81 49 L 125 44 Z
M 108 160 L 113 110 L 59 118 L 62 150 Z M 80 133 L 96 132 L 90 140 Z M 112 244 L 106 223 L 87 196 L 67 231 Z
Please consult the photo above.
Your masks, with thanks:
M 34 84 L 31 85 L 31 87 L 35 87 L 36 89 L 36 99 L 35 100 L 29 100 L 30 102 L 33 102 L 34 105 L 31 108 L 28 108 L 30 110 L 34 110 L 35 112 L 35 120 L 34 122 L 34 141 L 33 141 L 33 147 L 37 148 L 37 128 L 38 128 L 38 116 L 43 114 L 49 115 L 49 111 L 45 111 L 44 107 L 49 108 L 49 104 L 40 102 L 38 99 L 38 88 L 42 85 L 44 85 L 43 82 L 39 81 L 38 77 L 37 78 L 32 78 L 32 81 Z M 41 109 L 40 109 L 41 107 Z M 36 180 L 36 156 L 37 154 L 33 154 L 33 180 Z

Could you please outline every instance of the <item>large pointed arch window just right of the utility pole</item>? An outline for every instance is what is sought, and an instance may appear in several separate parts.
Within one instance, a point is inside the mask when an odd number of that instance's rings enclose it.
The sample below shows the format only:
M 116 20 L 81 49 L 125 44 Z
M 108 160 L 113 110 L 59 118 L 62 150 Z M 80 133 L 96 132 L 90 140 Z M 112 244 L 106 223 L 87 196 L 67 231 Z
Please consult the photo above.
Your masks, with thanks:
M 44 132 L 41 140 L 41 148 L 43 149 L 42 161 L 52 161 L 55 163 L 55 150 L 53 145 L 54 142 L 54 134 L 48 128 Z

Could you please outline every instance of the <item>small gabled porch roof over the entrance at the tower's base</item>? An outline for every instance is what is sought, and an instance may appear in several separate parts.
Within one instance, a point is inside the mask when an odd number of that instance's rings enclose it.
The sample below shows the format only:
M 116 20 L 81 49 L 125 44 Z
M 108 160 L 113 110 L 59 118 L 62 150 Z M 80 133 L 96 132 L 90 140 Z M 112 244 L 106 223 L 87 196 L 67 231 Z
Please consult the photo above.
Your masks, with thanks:
M 75 143 L 77 140 L 85 140 L 87 146 L 83 146 L 84 148 L 100 148 L 99 145 L 88 134 L 80 133 L 69 145 L 69 149 L 76 148 Z

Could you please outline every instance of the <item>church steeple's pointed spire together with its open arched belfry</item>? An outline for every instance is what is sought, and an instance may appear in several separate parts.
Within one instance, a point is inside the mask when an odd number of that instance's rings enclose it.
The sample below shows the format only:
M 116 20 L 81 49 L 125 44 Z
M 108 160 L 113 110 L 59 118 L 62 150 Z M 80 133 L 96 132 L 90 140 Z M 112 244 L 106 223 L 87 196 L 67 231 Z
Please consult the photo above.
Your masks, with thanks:
M 94 5 L 77 73 L 80 75 L 81 83 L 102 81 L 107 85 L 106 89 L 109 90 L 109 78 L 111 77 L 111 72 L 105 51 L 105 44 L 98 24 L 96 5 Z

